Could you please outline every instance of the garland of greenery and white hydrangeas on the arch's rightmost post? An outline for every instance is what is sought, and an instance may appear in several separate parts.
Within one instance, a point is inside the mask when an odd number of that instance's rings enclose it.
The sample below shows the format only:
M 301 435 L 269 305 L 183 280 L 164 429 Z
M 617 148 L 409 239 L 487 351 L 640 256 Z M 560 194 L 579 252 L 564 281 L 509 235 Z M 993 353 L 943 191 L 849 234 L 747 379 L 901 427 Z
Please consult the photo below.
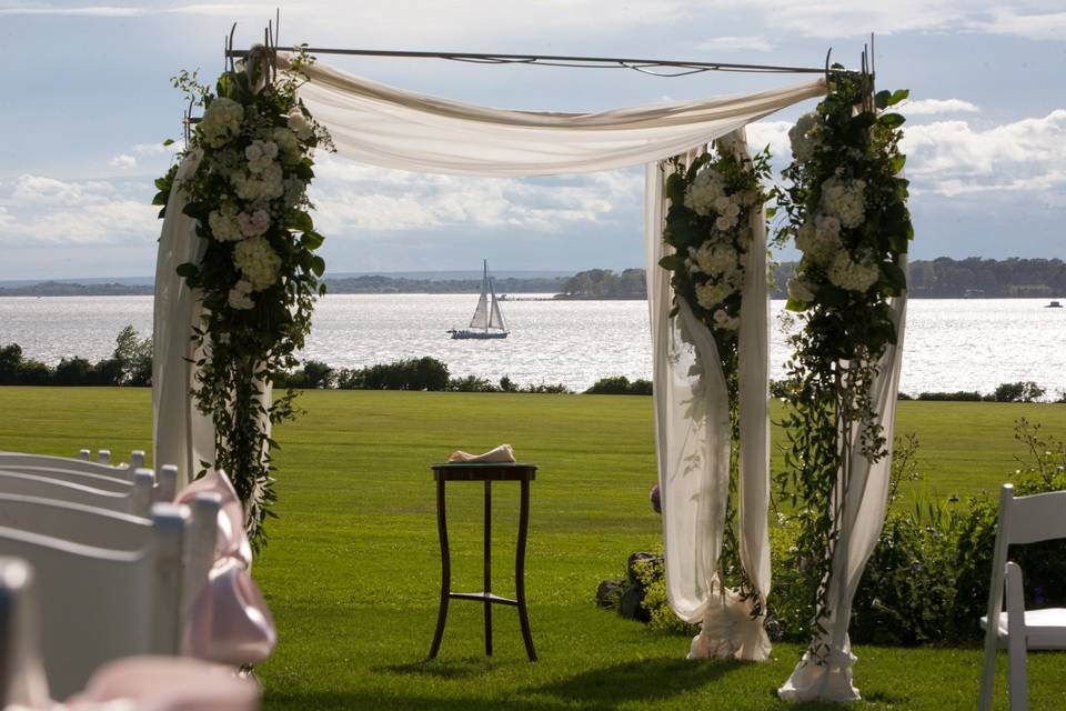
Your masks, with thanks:
M 794 161 L 791 187 L 778 204 L 787 226 L 778 239 L 795 238 L 803 252 L 788 282 L 787 309 L 802 330 L 790 339 L 788 444 L 776 475 L 798 519 L 794 550 L 813 605 L 814 657 L 828 653 L 824 621 L 828 581 L 846 498 L 853 425 L 863 455 L 875 462 L 887 447 L 871 388 L 878 359 L 896 342 L 889 298 L 906 289 L 899 258 L 914 232 L 901 177 L 904 118 L 884 113 L 907 91 L 871 96 L 869 77 L 834 71 L 829 94 L 790 131 Z

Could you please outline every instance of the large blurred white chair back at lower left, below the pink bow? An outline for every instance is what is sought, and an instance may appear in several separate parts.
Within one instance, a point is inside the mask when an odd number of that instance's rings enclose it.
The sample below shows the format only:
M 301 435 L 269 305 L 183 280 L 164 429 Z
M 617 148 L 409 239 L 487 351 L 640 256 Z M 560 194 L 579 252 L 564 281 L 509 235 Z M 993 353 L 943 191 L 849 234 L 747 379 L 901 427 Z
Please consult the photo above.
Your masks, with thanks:
M 151 541 L 138 551 L 0 528 L 0 555 L 33 568 L 41 658 L 58 698 L 81 689 L 108 660 L 178 653 L 187 515 L 174 504 L 155 504 Z

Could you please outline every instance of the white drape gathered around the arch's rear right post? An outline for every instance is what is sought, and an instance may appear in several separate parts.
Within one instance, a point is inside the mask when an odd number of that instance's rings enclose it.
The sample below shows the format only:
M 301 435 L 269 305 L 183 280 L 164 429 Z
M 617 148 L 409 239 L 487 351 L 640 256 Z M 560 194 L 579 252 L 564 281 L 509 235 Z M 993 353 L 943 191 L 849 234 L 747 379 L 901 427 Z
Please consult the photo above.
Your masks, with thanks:
M 721 139 L 720 147 L 742 159 L 748 157 L 743 129 Z M 690 151 L 685 163 L 695 156 Z M 665 163 L 647 169 L 645 238 L 667 597 L 678 617 L 702 623 L 690 657 L 761 660 L 771 649 L 763 619 L 753 619 L 751 602 L 723 589 L 715 574 L 727 524 L 728 394 L 717 347 L 707 328 L 684 303 L 676 318 L 670 318 L 670 277 L 658 267 L 658 260 L 670 250 L 662 237 L 666 169 Z M 770 592 L 768 296 L 761 211 L 752 216 L 750 227 L 752 246 L 745 262 L 738 334 L 738 542 L 742 564 L 765 601 Z

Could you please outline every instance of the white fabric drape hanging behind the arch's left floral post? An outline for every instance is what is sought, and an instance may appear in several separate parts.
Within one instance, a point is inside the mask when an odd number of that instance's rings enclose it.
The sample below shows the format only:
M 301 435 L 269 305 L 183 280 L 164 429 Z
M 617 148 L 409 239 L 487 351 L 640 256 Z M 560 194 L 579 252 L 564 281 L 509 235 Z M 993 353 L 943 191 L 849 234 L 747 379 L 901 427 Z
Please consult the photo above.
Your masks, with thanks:
M 214 462 L 214 423 L 197 409 L 190 391 L 194 384 L 199 349 L 192 329 L 200 324 L 200 297 L 178 276 L 179 264 L 200 263 L 203 240 L 197 221 L 183 212 L 185 194 L 178 184 L 197 171 L 200 156 L 189 154 L 174 177 L 155 261 L 155 300 L 152 313 L 152 452 L 157 469 L 178 467 L 178 485 L 184 487 Z

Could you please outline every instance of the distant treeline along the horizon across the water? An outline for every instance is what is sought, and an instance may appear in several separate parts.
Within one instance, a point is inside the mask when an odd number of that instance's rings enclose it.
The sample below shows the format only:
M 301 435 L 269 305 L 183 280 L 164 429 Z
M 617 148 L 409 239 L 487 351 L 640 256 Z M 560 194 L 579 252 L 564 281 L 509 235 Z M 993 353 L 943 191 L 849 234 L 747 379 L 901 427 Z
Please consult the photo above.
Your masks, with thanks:
M 784 299 L 785 284 L 796 262 L 774 266 L 774 299 Z M 480 279 L 412 279 L 363 276 L 325 278 L 328 293 L 479 293 Z M 644 299 L 643 269 L 587 269 L 573 277 L 517 278 L 493 281 L 497 294 L 553 293 L 560 299 Z M 0 297 L 151 296 L 143 284 L 80 284 L 46 281 L 26 287 L 0 287 Z M 911 262 L 909 294 L 914 299 L 1066 298 L 1066 262 L 1062 259 L 969 259 L 941 257 Z

